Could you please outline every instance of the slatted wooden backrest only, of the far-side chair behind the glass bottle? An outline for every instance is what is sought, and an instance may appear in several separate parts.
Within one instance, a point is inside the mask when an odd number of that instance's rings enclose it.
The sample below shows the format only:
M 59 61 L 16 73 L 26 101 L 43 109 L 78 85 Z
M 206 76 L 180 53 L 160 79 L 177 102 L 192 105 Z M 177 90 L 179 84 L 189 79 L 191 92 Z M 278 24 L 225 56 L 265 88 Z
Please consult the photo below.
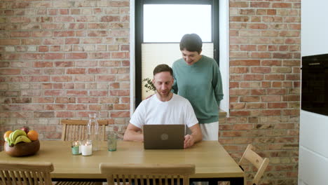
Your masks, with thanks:
M 101 140 L 106 140 L 105 132 L 106 125 L 108 125 L 107 120 L 97 120 L 99 124 L 99 138 Z M 62 119 L 62 141 L 76 141 L 87 139 L 87 120 L 66 120 Z

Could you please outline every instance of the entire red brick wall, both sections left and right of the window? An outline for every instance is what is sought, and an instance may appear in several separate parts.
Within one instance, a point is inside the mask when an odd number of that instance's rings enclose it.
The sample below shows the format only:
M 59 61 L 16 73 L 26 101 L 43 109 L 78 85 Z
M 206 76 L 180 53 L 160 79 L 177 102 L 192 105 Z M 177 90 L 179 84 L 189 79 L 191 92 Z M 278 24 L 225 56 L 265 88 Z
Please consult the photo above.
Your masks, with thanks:
M 29 125 L 59 139 L 60 119 L 130 117 L 129 1 L 1 1 L 0 133 Z M 230 118 L 221 144 L 269 157 L 261 184 L 296 184 L 300 0 L 230 1 Z M 0 145 L 3 139 L 0 139 Z M 246 167 L 247 178 L 252 168 Z

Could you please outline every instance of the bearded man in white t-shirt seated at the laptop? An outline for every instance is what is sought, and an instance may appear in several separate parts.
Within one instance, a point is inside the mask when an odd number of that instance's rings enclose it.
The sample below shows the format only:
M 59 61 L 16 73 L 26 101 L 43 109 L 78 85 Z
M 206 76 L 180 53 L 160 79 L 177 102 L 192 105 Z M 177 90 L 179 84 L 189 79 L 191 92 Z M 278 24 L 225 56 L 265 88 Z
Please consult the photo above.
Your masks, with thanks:
M 144 141 L 142 126 L 150 124 L 183 124 L 191 130 L 184 136 L 184 148 L 203 139 L 193 107 L 188 100 L 171 92 L 174 82 L 172 68 L 159 64 L 153 69 L 156 95 L 142 101 L 130 119 L 123 140 Z

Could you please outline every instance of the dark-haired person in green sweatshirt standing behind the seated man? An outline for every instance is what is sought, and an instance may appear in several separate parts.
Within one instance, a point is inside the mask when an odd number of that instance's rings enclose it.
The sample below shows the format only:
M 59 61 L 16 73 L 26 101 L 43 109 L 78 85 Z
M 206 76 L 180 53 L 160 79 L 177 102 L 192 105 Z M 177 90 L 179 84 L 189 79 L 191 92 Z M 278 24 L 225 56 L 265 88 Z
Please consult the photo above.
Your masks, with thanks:
M 201 55 L 203 42 L 197 34 L 185 34 L 180 41 L 182 58 L 172 65 L 174 93 L 191 102 L 203 140 L 218 140 L 219 105 L 223 99 L 217 62 Z

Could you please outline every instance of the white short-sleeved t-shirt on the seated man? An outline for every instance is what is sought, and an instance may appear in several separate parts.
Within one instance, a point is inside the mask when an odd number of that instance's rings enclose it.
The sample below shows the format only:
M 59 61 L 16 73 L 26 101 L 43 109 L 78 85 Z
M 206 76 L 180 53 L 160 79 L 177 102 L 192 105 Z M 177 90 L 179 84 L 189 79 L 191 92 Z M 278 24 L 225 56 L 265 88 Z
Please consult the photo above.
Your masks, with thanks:
M 168 102 L 158 100 L 156 95 L 142 101 L 130 119 L 137 128 L 143 125 L 183 124 L 192 127 L 198 120 L 193 107 L 186 98 L 173 94 Z

